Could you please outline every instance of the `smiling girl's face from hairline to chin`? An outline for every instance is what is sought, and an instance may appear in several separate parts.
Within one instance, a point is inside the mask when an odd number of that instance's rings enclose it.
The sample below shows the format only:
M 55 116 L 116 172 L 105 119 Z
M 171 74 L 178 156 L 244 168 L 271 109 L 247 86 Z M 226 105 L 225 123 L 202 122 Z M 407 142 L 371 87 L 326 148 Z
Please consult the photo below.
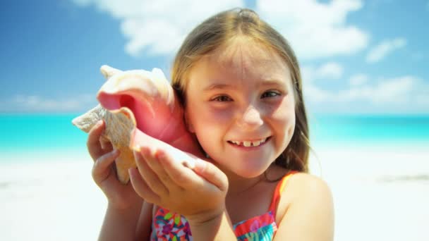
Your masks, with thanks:
M 257 44 L 235 42 L 198 61 L 188 75 L 186 121 L 223 170 L 261 175 L 295 128 L 291 73 Z

